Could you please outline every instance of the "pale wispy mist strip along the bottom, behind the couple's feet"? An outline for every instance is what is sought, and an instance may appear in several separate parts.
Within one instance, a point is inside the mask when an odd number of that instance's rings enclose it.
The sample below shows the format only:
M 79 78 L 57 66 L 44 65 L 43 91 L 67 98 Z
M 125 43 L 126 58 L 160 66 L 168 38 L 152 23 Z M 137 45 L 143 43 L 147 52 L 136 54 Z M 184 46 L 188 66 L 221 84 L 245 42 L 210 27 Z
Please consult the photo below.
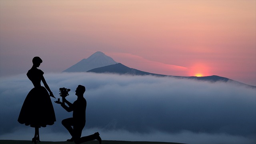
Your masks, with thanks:
M 147 134 L 139 132 L 128 132 L 127 130 L 102 130 L 99 128 L 85 128 L 82 136 L 99 131 L 103 140 L 125 140 L 125 141 L 148 141 L 148 142 L 177 142 L 185 144 L 254 144 L 253 137 L 232 136 L 229 134 L 208 134 L 182 131 L 179 133 L 168 133 L 154 131 Z M 3 140 L 30 140 L 34 136 L 32 128 L 17 128 L 14 132 L 3 134 Z M 40 139 L 43 141 L 65 141 L 70 134 L 65 130 L 53 132 L 52 128 L 41 128 Z

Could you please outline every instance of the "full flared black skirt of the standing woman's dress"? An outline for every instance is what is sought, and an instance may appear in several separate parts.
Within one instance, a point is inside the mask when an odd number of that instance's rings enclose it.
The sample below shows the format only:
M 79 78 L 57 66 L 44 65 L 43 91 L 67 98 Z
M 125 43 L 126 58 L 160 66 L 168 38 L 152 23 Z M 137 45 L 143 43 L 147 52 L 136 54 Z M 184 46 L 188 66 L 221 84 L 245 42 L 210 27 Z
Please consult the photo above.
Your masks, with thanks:
M 56 122 L 52 101 L 46 88 L 41 86 L 30 90 L 20 110 L 18 122 L 33 128 L 46 127 Z

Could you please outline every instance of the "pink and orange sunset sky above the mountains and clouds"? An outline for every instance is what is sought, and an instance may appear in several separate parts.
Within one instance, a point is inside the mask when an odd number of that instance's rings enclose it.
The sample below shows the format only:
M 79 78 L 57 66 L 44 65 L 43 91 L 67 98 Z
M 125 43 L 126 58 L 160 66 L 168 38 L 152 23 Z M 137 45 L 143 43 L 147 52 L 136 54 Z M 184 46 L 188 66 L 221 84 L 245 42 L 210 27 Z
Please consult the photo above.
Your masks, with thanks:
M 0 74 L 40 56 L 62 72 L 94 52 L 158 74 L 256 85 L 255 0 L 0 1 Z

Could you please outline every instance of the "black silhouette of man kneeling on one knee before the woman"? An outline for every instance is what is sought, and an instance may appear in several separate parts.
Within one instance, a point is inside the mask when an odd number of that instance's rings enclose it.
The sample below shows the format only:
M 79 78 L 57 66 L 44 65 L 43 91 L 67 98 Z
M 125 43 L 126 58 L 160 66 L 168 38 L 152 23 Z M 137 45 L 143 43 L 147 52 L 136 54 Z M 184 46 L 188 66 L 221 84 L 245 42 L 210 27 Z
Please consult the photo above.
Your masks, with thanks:
M 101 144 L 101 138 L 100 134 L 98 132 L 90 135 L 90 136 L 84 136 L 82 135 L 82 130 L 85 126 L 86 122 L 86 100 L 84 98 L 84 92 L 85 87 L 82 85 L 79 85 L 76 88 L 76 96 L 77 100 L 74 101 L 74 103 L 68 102 L 66 98 L 62 99 L 62 102 L 55 101 L 57 104 L 61 104 L 61 106 L 67 111 L 72 112 L 73 111 L 73 118 L 67 118 L 62 120 L 62 125 L 68 130 L 68 132 L 71 134 L 72 138 L 68 139 L 67 141 L 74 141 L 76 144 L 80 144 L 82 142 L 87 142 L 91 140 L 98 140 Z M 68 105 L 66 106 L 65 103 Z M 72 128 L 73 126 L 73 128 Z

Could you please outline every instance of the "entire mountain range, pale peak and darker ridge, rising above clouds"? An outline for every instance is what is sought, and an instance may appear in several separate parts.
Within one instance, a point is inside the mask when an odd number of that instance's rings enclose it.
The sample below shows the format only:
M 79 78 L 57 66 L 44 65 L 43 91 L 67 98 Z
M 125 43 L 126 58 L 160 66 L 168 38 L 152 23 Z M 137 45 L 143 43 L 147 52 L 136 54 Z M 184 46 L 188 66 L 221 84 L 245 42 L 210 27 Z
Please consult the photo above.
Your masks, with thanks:
M 256 86 L 244 84 L 242 82 L 238 82 L 235 80 L 231 80 L 229 78 L 221 77 L 221 76 L 171 76 L 164 74 L 154 74 L 150 72 L 144 72 L 141 70 L 137 70 L 134 68 L 129 68 L 121 63 L 114 61 L 111 57 L 106 56 L 103 52 L 95 52 L 87 59 L 83 59 L 77 64 L 71 66 L 70 68 L 64 70 L 63 72 L 94 72 L 94 73 L 113 73 L 113 74 L 128 74 L 128 75 L 152 75 L 152 76 L 168 76 L 173 78 L 186 78 L 186 79 L 194 79 L 194 80 L 203 80 L 209 82 L 233 82 L 236 84 L 243 84 L 248 87 L 256 88 Z

